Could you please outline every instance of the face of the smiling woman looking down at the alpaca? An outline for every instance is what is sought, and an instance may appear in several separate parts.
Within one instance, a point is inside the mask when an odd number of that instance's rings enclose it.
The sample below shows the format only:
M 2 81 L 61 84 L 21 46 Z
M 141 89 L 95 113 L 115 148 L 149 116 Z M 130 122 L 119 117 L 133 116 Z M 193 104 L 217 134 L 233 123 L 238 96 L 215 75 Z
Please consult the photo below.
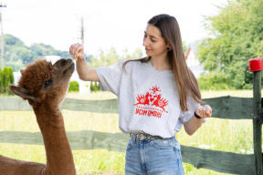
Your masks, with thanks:
M 158 57 L 167 53 L 168 45 L 164 41 L 159 28 L 148 25 L 144 32 L 142 46 L 145 46 L 147 56 Z

